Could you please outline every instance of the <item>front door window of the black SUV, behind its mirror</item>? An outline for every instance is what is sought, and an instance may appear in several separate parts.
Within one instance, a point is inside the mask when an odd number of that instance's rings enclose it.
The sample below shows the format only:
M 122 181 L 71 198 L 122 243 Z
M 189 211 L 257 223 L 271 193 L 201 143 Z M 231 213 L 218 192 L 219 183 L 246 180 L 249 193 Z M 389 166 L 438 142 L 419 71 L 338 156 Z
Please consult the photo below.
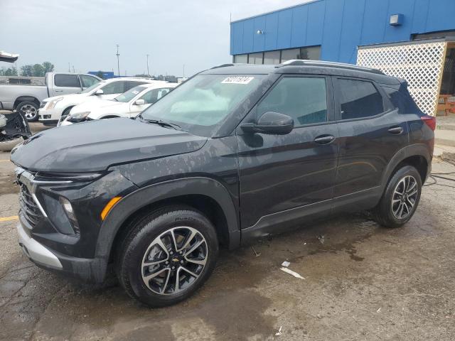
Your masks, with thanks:
M 294 119 L 295 126 L 327 121 L 326 79 L 284 77 L 257 107 L 257 117 L 279 112 Z

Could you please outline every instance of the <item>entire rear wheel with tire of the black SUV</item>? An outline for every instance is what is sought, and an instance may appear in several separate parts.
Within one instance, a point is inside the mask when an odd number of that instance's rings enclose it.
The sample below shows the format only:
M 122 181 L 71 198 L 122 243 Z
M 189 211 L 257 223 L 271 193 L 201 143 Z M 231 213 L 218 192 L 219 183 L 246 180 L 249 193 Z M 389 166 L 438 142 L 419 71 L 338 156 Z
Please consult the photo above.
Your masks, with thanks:
M 403 166 L 390 178 L 373 217 L 384 227 L 400 227 L 414 215 L 422 193 L 422 179 L 416 168 Z M 393 200 L 393 202 L 392 202 Z

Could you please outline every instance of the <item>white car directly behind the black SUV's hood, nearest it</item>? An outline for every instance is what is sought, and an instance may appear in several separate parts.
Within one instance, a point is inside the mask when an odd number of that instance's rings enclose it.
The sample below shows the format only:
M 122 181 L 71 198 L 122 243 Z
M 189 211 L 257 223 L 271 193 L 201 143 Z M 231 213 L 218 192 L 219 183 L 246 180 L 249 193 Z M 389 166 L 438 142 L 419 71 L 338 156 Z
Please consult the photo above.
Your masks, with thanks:
M 65 119 L 60 119 L 58 125 L 69 124 L 92 119 L 112 119 L 114 117 L 136 117 L 149 105 L 170 92 L 178 83 L 156 81 L 151 84 L 138 85 L 120 94 L 114 99 L 97 102 L 85 102 L 71 109 Z

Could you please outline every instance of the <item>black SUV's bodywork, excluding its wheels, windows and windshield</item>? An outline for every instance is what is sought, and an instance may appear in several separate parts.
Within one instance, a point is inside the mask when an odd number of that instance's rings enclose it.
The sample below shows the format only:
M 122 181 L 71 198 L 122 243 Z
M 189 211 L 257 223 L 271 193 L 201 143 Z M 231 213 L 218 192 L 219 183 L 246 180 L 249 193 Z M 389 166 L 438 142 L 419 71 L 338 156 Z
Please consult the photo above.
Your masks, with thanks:
M 403 80 L 354 65 L 316 62 L 227 65 L 200 75 L 267 77 L 210 136 L 108 119 L 36 134 L 11 154 L 28 200 L 19 214 L 21 224 L 55 254 L 61 271 L 102 281 L 129 222 L 160 205 L 178 202 L 202 210 L 219 239 L 233 249 L 294 227 L 302 218 L 374 207 L 404 161 L 417 166 L 422 180 L 429 174 L 434 134 Z M 242 128 L 257 123 L 259 106 L 282 80 L 301 77 L 325 81 L 326 121 L 300 124 L 289 134 Z M 343 119 L 340 79 L 374 85 L 382 112 Z M 62 197 L 73 205 L 77 226 L 63 211 Z M 121 199 L 102 219 L 113 197 Z

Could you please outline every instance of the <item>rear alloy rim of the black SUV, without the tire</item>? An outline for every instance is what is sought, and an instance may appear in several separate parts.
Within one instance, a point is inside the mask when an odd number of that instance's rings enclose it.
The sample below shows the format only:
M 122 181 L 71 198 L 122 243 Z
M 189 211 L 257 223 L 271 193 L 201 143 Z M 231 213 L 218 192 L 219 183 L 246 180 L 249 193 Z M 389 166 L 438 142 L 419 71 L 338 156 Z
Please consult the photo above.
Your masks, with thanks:
M 392 195 L 392 213 L 397 219 L 405 219 L 411 214 L 417 200 L 419 189 L 417 180 L 412 175 L 402 178 Z

